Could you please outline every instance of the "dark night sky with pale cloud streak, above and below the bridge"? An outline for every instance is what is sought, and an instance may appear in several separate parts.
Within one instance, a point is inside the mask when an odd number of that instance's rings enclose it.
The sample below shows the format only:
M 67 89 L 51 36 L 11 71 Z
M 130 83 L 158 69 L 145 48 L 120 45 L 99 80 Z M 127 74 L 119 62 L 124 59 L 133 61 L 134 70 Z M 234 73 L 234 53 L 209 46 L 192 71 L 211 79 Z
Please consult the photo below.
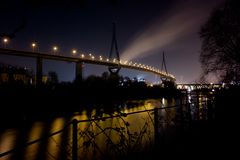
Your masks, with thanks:
M 162 53 L 177 83 L 198 80 L 201 67 L 199 30 L 213 8 L 223 0 L 1 0 L 0 34 L 26 26 L 10 40 L 8 48 L 31 50 L 36 41 L 41 52 L 79 53 L 108 56 L 112 22 L 116 23 L 120 57 L 161 68 Z M 1 43 L 1 47 L 3 44 Z M 0 55 L 0 62 L 35 68 L 31 58 Z M 84 76 L 101 75 L 105 66 L 84 66 Z M 56 71 L 61 81 L 74 79 L 75 64 L 44 61 L 44 73 Z M 143 77 L 156 82 L 159 78 L 146 72 L 122 69 L 120 74 Z

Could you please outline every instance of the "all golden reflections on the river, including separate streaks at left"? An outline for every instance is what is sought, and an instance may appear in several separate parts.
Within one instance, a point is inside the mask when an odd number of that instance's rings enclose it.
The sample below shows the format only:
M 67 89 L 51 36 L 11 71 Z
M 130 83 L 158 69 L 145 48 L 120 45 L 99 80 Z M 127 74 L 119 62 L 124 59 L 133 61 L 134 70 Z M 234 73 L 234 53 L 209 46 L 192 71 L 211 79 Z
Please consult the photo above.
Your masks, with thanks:
M 124 105 L 124 107 L 120 108 L 119 111 L 115 111 L 111 114 L 104 113 L 102 110 L 102 113 L 99 115 L 99 111 L 96 109 L 92 110 L 91 113 L 89 113 L 89 111 L 87 112 L 86 110 L 76 112 L 73 113 L 72 117 L 68 121 L 73 119 L 81 121 L 97 118 L 99 116 L 109 117 L 119 115 L 120 113 L 128 114 L 132 112 L 151 110 L 154 108 L 174 106 L 176 103 L 178 103 L 178 101 L 175 101 L 174 99 L 152 99 L 141 101 L 141 103 L 136 101 L 137 105 L 135 105 L 135 107 Z M 169 113 L 171 116 L 175 116 L 174 109 L 170 109 L 168 111 L 168 114 Z M 165 117 L 166 114 L 166 111 L 163 110 L 160 113 L 160 116 Z M 92 159 L 94 157 L 96 158 L 101 156 L 103 152 L 106 152 L 109 149 L 112 150 L 112 152 L 109 152 L 109 154 L 113 154 L 117 150 L 116 145 L 113 144 L 118 144 L 118 147 L 121 149 L 119 152 L 123 152 L 123 154 L 127 154 L 125 152 L 128 152 L 129 149 L 134 149 L 131 147 L 141 148 L 144 146 L 142 144 L 152 145 L 154 140 L 153 119 L 153 111 L 149 111 L 105 120 L 78 123 L 78 155 L 81 155 L 81 158 L 84 159 Z M 28 128 L 28 135 L 26 135 L 27 142 L 36 140 L 46 134 L 46 125 L 49 126 L 48 132 L 53 133 L 61 130 L 66 124 L 67 121 L 65 117 L 56 117 L 55 120 L 51 122 L 34 122 L 32 123 L 32 126 Z M 62 145 L 64 145 L 64 141 L 67 141 L 65 144 L 66 146 L 64 146 L 64 149 L 66 150 L 64 152 L 67 152 L 66 157 L 71 157 L 72 127 L 69 127 L 67 132 L 68 133 L 65 135 L 68 137 L 62 136 L 62 134 L 57 134 L 47 140 L 45 144 L 46 151 L 43 153 L 46 155 L 45 159 L 58 159 L 61 155 L 60 152 L 63 150 Z M 14 148 L 18 135 L 17 133 L 17 129 L 5 130 L 3 133 L 1 133 L 0 153 Z M 63 138 L 65 138 L 65 140 L 63 140 Z M 128 141 L 128 139 L 132 139 L 132 141 Z M 38 152 L 41 145 L 43 144 L 38 142 L 26 147 L 22 159 L 36 159 L 36 156 L 39 155 Z M 98 152 L 95 150 L 98 150 Z M 11 160 L 11 156 L 5 156 L 4 158 L 1 158 L 1 160 L 2 159 Z

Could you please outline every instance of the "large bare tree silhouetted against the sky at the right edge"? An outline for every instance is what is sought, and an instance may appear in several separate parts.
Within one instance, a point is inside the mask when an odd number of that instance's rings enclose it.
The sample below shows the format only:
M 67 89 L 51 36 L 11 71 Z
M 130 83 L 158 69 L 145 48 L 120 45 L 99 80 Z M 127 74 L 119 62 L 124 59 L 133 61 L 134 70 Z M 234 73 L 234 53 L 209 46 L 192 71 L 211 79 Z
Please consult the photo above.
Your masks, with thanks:
M 216 73 L 222 82 L 240 81 L 240 1 L 228 0 L 202 26 L 200 62 L 203 75 Z

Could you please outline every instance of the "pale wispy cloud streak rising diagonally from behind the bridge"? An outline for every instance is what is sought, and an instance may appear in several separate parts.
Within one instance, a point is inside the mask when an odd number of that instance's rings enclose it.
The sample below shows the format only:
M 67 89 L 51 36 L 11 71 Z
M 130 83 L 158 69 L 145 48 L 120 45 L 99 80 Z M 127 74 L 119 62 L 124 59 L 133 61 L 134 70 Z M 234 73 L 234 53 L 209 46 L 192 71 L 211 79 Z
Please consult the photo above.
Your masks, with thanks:
M 220 1 L 222 0 L 218 0 Z M 149 56 L 158 49 L 164 50 L 166 46 L 175 45 L 177 40 L 196 34 L 216 4 L 218 3 L 206 0 L 179 0 L 168 13 L 160 16 L 142 33 L 136 35 L 121 59 L 132 60 L 139 56 Z

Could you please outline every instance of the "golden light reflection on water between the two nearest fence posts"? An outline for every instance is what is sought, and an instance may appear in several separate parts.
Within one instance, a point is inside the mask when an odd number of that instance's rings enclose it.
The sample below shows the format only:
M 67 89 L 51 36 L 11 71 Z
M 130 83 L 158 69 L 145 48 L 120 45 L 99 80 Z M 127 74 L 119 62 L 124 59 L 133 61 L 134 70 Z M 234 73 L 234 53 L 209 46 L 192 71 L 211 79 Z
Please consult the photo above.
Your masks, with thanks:
M 102 117 L 116 116 L 119 113 L 132 113 L 144 110 L 151 110 L 154 108 L 160 108 L 162 106 L 169 105 L 167 100 L 164 100 L 164 104 L 161 103 L 162 100 L 147 100 L 144 103 L 140 103 L 140 105 L 134 105 L 135 107 L 124 106 L 119 111 L 115 111 L 111 114 L 103 113 Z M 138 103 L 138 102 L 136 102 Z M 170 101 L 170 104 L 174 103 L 174 101 Z M 82 112 L 86 113 L 86 111 Z M 97 116 L 98 113 L 96 110 L 93 110 L 90 114 L 79 114 L 74 115 L 72 119 L 77 119 L 78 121 L 93 119 Z M 154 124 L 153 124 L 153 112 L 141 112 L 136 114 L 131 114 L 128 116 L 121 116 L 115 118 L 109 118 L 104 121 L 92 121 L 92 122 L 81 122 L 78 125 L 78 130 L 80 132 L 80 140 L 78 142 L 79 150 L 78 155 L 81 155 L 82 159 L 93 159 L 98 156 L 101 156 L 101 152 L 105 153 L 111 149 L 109 149 L 108 144 L 119 144 L 119 148 L 121 148 L 122 154 L 127 154 L 127 150 L 130 150 L 133 147 L 133 143 L 139 144 L 147 144 L 153 143 L 154 137 Z M 127 127 L 126 127 L 127 126 Z M 147 126 L 147 127 L 146 127 Z M 104 132 L 103 132 L 104 131 Z M 70 131 L 71 132 L 71 131 Z M 144 133 L 143 133 L 144 132 Z M 71 133 L 72 134 L 72 133 Z M 94 144 L 91 143 L 89 146 L 85 146 L 85 142 L 89 142 L 91 138 L 94 138 Z M 139 138 L 139 142 L 136 142 L 136 138 Z M 132 139 L 133 142 L 123 142 L 126 139 Z M 109 142 L 110 141 L 110 142 Z M 121 146 L 121 142 L 124 143 Z M 97 146 L 97 147 L 96 147 Z M 112 145 L 112 149 L 114 149 L 114 145 Z M 139 147 L 139 146 L 138 146 Z M 88 152 L 86 152 L 86 148 Z M 93 150 L 101 150 L 101 152 L 93 153 Z M 109 153 L 110 154 L 110 153 Z M 94 157 L 93 157 L 94 156 Z

